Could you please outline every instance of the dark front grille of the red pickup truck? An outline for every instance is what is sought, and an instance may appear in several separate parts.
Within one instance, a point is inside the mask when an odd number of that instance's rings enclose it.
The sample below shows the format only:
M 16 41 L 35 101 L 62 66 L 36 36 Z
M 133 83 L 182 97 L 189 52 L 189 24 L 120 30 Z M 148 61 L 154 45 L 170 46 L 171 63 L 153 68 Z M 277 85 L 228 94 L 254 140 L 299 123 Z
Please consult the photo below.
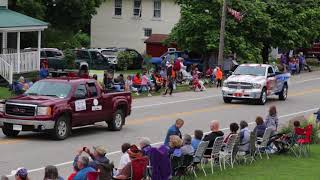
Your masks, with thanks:
M 6 114 L 14 116 L 35 116 L 36 106 L 23 104 L 6 104 Z

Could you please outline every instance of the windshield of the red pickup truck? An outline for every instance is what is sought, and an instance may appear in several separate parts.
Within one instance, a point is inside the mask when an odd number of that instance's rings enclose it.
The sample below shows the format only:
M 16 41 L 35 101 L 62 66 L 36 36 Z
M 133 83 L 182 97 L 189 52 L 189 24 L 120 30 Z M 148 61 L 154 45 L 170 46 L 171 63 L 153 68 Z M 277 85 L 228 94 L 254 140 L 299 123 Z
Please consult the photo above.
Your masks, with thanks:
M 71 86 L 66 83 L 39 81 L 32 85 L 25 95 L 66 98 L 70 91 Z

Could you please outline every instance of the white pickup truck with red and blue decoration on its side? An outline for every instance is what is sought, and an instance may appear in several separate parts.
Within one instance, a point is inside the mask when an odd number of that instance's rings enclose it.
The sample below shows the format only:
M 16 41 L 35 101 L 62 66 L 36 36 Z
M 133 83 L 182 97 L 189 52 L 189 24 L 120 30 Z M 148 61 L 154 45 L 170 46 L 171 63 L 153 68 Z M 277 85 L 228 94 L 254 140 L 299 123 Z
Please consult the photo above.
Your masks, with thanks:
M 225 103 L 236 100 L 254 100 L 264 105 L 267 97 L 278 95 L 286 100 L 290 73 L 281 73 L 272 65 L 242 64 L 223 83 L 222 96 Z

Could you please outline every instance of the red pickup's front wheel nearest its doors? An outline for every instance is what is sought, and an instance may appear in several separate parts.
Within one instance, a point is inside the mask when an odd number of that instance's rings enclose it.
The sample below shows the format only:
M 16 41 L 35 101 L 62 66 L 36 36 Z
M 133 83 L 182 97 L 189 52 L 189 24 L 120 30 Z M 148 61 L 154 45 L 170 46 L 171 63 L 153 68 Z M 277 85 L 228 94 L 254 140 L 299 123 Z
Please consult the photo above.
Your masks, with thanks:
M 67 116 L 61 116 L 56 121 L 56 124 L 53 129 L 53 137 L 56 140 L 66 139 L 71 132 L 70 121 Z

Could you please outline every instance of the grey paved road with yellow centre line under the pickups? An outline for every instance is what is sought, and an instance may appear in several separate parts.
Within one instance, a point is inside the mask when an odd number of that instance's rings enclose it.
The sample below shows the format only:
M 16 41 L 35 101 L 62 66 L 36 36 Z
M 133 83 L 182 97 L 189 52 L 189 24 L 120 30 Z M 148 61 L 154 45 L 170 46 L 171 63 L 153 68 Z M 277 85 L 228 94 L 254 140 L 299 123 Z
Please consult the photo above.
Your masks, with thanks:
M 246 120 L 252 122 L 255 116 L 265 116 L 271 105 L 278 107 L 280 122 L 298 115 L 311 114 L 318 108 L 320 99 L 320 72 L 295 76 L 290 82 L 287 101 L 271 99 L 265 106 L 250 104 L 224 104 L 218 89 L 206 92 L 186 92 L 173 97 L 151 97 L 137 99 L 133 113 L 121 132 L 110 132 L 104 124 L 76 129 L 64 141 L 53 141 L 45 134 L 23 133 L 15 139 L 8 139 L 0 132 L 0 174 L 10 174 L 12 169 L 26 167 L 32 179 L 41 179 L 43 166 L 53 164 L 66 177 L 71 173 L 71 161 L 75 151 L 81 147 L 104 145 L 108 157 L 116 164 L 123 142 L 137 143 L 139 137 L 148 136 L 155 144 L 163 141 L 167 127 L 175 119 L 183 118 L 186 123 L 183 133 L 195 129 L 209 131 L 209 122 L 219 120 L 221 128 L 227 130 L 231 122 Z M 252 127 L 252 126 L 251 126 Z

